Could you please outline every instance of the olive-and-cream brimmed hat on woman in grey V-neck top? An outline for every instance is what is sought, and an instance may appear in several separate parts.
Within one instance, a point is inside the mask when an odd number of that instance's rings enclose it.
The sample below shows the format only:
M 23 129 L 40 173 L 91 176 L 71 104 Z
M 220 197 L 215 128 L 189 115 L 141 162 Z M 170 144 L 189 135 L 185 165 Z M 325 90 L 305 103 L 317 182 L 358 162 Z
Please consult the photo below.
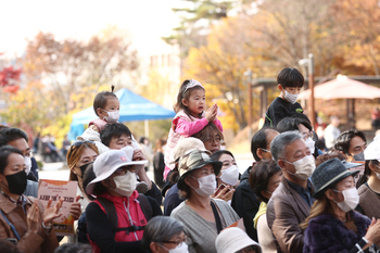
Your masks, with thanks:
M 178 163 L 179 179 L 177 187 L 180 190 L 183 190 L 185 178 L 192 172 L 198 168 L 202 168 L 205 165 L 211 164 L 214 168 L 214 174 L 219 175 L 223 163 L 219 161 L 211 160 L 208 152 L 202 150 L 190 150 L 185 153 Z

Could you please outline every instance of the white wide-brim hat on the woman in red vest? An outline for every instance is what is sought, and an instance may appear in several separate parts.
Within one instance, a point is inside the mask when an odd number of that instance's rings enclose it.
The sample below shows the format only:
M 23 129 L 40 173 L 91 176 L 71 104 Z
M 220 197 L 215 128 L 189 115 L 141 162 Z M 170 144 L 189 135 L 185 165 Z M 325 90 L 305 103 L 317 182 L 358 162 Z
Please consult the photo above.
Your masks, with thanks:
M 97 182 L 109 178 L 117 168 L 128 165 L 141 165 L 148 161 L 132 161 L 134 148 L 125 147 L 123 150 L 109 150 L 101 153 L 93 162 L 96 178 L 86 187 L 87 194 L 91 194 Z

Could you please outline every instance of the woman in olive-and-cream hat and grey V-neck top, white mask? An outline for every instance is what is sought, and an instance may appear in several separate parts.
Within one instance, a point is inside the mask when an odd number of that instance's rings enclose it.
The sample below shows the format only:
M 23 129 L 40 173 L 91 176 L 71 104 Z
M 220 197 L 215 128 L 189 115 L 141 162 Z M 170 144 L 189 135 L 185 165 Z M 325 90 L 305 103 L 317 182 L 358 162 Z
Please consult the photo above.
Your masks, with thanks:
M 170 216 L 185 225 L 191 253 L 216 252 L 217 235 L 239 219 L 227 202 L 211 199 L 220 167 L 221 162 L 212 161 L 208 153 L 201 150 L 192 150 L 179 159 L 177 185 L 180 195 L 187 200 Z

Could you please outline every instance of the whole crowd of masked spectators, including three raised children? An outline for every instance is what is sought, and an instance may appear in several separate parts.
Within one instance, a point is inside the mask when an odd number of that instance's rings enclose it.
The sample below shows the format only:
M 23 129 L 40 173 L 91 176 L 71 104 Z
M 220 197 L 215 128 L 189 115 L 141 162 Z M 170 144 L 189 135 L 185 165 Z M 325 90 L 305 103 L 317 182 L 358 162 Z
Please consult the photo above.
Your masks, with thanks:
M 206 110 L 201 83 L 180 86 L 167 141 L 157 140 L 154 153 L 118 122 L 113 90 L 98 93 L 98 118 L 66 150 L 67 179 L 78 186 L 69 207 L 77 228 L 74 242 L 61 245 L 52 220 L 63 200 L 36 200 L 28 137 L 2 126 L 1 252 L 378 252 L 380 137 L 338 134 L 331 117 L 326 137 L 334 140 L 319 149 L 296 102 L 303 84 L 297 69 L 280 72 L 281 93 L 251 140 L 253 163 L 243 174 L 221 149 L 218 106 Z

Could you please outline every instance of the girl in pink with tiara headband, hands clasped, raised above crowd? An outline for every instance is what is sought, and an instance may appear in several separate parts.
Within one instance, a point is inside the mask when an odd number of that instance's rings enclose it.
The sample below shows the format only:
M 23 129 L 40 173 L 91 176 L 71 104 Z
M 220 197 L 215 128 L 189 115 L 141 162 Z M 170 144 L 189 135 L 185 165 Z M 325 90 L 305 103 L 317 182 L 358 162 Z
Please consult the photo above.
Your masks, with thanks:
M 177 103 L 174 106 L 177 114 L 172 122 L 165 150 L 165 179 L 169 170 L 174 168 L 173 150 L 180 139 L 199 132 L 210 122 L 213 122 L 223 131 L 221 123 L 216 118 L 218 105 L 213 104 L 205 112 L 205 89 L 198 80 L 185 80 L 180 86 Z

